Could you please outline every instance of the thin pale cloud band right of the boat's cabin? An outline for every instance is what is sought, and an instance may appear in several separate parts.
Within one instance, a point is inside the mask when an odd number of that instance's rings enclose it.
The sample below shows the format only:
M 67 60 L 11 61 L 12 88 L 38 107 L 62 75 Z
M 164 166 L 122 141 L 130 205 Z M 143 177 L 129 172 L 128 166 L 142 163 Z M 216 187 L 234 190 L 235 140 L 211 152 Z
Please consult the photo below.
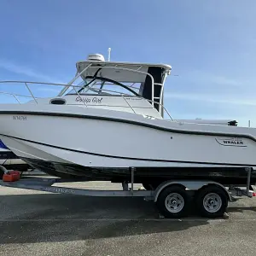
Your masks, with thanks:
M 211 102 L 211 103 L 223 103 L 223 104 L 235 104 L 235 105 L 247 105 L 256 106 L 255 99 L 241 99 L 238 96 L 221 96 L 212 94 L 194 94 L 194 93 L 165 93 L 165 98 L 174 98 L 185 101 L 196 102 Z

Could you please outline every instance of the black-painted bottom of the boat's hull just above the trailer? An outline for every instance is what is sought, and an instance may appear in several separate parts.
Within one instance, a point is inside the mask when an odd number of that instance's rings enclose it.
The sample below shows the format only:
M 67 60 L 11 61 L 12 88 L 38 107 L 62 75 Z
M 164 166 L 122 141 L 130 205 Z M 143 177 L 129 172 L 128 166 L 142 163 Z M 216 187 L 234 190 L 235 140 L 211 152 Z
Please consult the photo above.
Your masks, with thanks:
M 49 175 L 79 178 L 84 181 L 131 182 L 131 168 L 89 167 L 45 160 L 24 159 L 31 166 Z M 246 184 L 247 171 L 242 167 L 137 167 L 135 183 L 160 184 L 166 179 L 208 180 L 222 184 Z M 251 184 L 256 183 L 252 172 Z

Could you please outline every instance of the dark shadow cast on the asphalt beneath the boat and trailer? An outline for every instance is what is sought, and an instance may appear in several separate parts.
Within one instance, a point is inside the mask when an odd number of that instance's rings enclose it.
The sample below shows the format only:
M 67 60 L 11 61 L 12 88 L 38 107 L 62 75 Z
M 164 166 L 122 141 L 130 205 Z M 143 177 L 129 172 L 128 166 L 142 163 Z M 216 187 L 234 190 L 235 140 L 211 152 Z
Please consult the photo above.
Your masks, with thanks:
M 142 198 L 1 195 L 0 205 L 0 244 L 136 236 L 208 224 L 207 219 L 161 220 L 154 203 Z

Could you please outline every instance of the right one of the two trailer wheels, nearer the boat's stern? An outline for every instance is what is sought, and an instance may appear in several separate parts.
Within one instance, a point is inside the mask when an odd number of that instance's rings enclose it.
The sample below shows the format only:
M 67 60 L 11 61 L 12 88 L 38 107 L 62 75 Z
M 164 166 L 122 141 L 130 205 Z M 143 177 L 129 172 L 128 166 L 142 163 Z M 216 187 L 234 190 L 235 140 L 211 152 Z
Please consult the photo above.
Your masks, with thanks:
M 224 189 L 209 185 L 198 191 L 195 204 L 203 217 L 222 217 L 228 207 L 228 195 Z

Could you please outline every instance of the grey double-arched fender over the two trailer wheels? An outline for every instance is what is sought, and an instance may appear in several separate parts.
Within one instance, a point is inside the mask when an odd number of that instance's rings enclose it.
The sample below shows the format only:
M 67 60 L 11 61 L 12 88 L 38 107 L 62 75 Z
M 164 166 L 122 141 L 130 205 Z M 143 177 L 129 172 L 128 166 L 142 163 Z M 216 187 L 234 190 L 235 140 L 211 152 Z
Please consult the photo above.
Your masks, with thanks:
M 231 195 L 230 195 L 228 189 L 226 189 L 224 187 L 224 185 L 222 185 L 221 183 L 216 183 L 214 181 L 191 181 L 191 180 L 178 181 L 178 180 L 176 180 L 176 181 L 166 181 L 164 183 L 160 183 L 160 185 L 154 191 L 154 202 L 157 201 L 157 199 L 163 189 L 166 189 L 167 187 L 174 185 L 174 184 L 178 185 L 178 186 L 182 186 L 184 189 L 194 190 L 194 191 L 201 189 L 203 186 L 216 185 L 216 186 L 224 189 L 229 201 L 232 201 Z

